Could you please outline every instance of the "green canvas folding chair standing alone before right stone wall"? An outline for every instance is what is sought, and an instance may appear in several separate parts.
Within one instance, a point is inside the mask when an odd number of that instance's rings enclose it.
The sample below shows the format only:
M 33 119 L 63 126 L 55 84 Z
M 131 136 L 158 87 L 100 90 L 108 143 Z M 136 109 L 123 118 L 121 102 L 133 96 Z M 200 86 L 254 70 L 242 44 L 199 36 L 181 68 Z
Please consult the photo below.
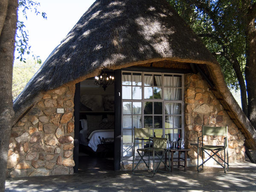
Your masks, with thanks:
M 223 145 L 204 145 L 204 136 L 224 136 L 224 144 Z M 209 159 L 215 160 L 221 167 L 224 168 L 224 172 L 229 168 L 228 164 L 228 140 L 227 140 L 227 126 L 226 127 L 208 127 L 208 126 L 202 126 L 202 145 L 201 145 L 201 153 L 202 153 L 202 163 L 199 165 L 199 160 L 197 160 L 197 170 L 198 172 L 201 171 L 199 169 L 200 166 L 202 166 L 202 169 L 204 168 L 204 163 L 206 163 Z M 199 138 L 197 144 L 191 144 L 196 145 L 198 149 L 198 157 L 199 157 Z M 227 162 L 226 162 L 226 149 L 227 149 Z M 218 152 L 224 150 L 224 160 L 218 155 Z M 210 155 L 207 151 L 212 151 L 212 155 Z M 209 158 L 204 161 L 204 152 L 209 155 Z M 222 162 L 224 162 L 224 165 L 222 165 L 218 160 L 214 158 L 214 156 L 217 156 Z M 227 169 L 226 169 L 227 164 Z

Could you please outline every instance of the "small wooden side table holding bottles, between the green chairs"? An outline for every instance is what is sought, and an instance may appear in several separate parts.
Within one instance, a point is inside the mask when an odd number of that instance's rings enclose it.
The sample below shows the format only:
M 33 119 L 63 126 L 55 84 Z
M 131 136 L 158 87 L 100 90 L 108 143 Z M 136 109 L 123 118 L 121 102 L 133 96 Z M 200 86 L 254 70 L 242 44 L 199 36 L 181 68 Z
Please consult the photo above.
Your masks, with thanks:
M 187 154 L 188 151 L 190 151 L 190 149 L 188 148 L 184 148 L 184 149 L 169 149 L 170 154 L 171 154 L 171 165 L 169 165 L 169 168 L 171 169 L 171 171 L 173 170 L 173 162 L 178 162 L 177 167 L 180 168 L 181 166 L 184 167 L 184 171 L 186 172 L 186 159 L 187 159 Z M 178 158 L 173 158 L 173 154 L 175 153 L 175 151 L 178 151 Z M 181 153 L 184 153 L 184 159 L 180 157 Z M 168 154 L 168 155 L 170 155 Z M 180 162 L 184 161 L 184 166 L 180 165 Z M 167 163 L 167 157 L 166 157 L 166 163 Z

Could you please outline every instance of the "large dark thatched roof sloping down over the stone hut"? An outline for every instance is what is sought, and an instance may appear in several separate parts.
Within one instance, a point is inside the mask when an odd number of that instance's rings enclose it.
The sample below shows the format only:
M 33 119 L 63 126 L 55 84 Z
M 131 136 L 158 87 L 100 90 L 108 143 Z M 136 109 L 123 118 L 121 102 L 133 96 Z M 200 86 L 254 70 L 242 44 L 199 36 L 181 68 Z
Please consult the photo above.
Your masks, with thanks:
M 256 148 L 256 133 L 247 126 L 217 61 L 166 0 L 96 0 L 17 97 L 15 119 L 44 91 L 82 81 L 104 68 L 161 60 L 206 64 L 216 90 L 232 105 L 242 127 L 250 129 Z

